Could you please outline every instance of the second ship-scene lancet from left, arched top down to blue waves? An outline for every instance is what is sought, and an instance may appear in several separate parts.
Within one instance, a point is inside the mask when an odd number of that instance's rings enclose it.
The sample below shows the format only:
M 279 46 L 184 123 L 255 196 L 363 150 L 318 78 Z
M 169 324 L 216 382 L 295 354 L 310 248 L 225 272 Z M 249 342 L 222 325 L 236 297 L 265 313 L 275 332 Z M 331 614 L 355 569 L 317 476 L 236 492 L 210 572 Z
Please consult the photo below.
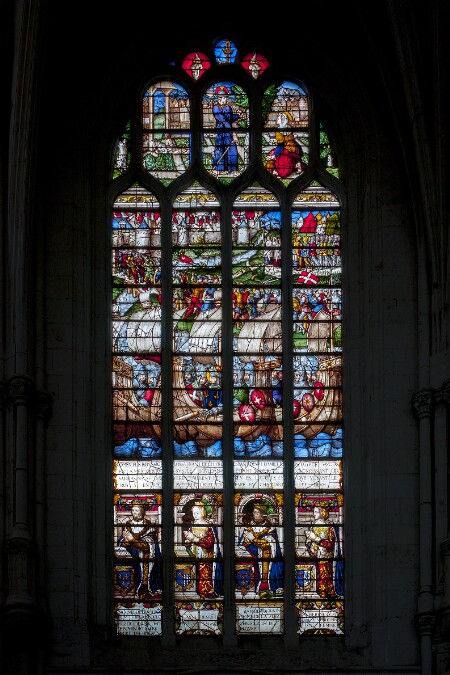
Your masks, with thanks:
M 194 184 L 178 195 L 175 204 L 185 206 L 172 214 L 175 455 L 219 457 L 223 420 L 219 202 Z

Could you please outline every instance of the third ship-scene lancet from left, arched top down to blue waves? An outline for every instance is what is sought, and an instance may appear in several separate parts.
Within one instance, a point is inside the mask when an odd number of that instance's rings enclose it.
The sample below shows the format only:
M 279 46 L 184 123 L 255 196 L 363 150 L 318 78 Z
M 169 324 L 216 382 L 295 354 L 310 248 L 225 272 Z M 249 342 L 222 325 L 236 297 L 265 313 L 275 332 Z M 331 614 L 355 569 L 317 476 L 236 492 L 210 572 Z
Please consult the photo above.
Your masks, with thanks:
M 281 457 L 281 219 L 255 184 L 232 217 L 233 419 L 236 457 Z

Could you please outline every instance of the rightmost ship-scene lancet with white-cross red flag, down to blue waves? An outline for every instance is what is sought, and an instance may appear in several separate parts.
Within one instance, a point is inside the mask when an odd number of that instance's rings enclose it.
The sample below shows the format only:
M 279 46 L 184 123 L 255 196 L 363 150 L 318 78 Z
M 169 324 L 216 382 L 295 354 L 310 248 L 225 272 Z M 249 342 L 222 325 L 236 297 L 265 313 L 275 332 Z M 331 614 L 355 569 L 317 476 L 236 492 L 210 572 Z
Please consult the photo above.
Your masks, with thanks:
M 340 458 L 340 212 L 317 183 L 294 200 L 292 244 L 295 457 Z

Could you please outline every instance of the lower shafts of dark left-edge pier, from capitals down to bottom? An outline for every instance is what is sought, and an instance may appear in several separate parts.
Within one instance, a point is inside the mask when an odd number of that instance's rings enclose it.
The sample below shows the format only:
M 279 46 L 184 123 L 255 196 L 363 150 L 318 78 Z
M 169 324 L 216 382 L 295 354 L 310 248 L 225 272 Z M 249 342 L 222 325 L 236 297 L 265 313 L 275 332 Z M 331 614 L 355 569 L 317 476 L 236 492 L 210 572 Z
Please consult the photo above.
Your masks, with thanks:
M 8 434 L 5 502 L 6 599 L 0 615 L 7 673 L 44 672 L 48 620 L 43 587 L 43 435 L 37 429 L 49 397 L 26 376 L 6 386 Z M 39 449 L 38 449 L 38 446 Z M 39 506 L 37 497 L 39 496 Z M 39 537 L 36 533 L 39 533 Z

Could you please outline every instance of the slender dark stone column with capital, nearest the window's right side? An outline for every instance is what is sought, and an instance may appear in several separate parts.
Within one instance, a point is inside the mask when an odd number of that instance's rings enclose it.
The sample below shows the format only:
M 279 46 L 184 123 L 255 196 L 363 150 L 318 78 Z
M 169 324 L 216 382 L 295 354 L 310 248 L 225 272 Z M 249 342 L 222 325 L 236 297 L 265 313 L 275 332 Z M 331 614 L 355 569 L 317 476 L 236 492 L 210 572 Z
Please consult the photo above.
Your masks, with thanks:
M 433 594 L 433 503 L 432 503 L 432 416 L 434 412 L 434 390 L 421 389 L 412 401 L 419 420 L 420 456 L 420 589 L 418 598 L 418 626 L 422 675 L 433 673 L 432 638 L 434 626 Z

